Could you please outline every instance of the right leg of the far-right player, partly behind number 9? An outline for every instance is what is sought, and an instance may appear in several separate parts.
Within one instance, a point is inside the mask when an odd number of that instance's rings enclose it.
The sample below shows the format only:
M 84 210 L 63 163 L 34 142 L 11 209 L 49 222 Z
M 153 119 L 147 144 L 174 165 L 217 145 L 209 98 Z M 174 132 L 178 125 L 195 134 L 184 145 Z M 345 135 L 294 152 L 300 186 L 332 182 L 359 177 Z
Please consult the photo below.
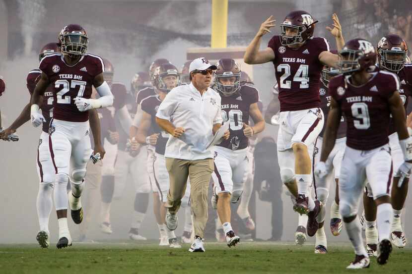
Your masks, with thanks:
M 399 145 L 398 134 L 394 133 L 389 136 L 389 145 L 391 147 L 392 161 L 394 165 L 394 174 L 398 170 L 399 166 L 404 163 L 404 154 Z M 394 175 L 392 184 L 392 208 L 393 208 L 393 222 L 391 228 L 391 240 L 392 243 L 403 248 L 406 246 L 407 239 L 402 228 L 401 215 L 404 208 L 406 197 L 408 195 L 409 177 L 404 179 L 401 187 L 398 187 L 399 176 Z

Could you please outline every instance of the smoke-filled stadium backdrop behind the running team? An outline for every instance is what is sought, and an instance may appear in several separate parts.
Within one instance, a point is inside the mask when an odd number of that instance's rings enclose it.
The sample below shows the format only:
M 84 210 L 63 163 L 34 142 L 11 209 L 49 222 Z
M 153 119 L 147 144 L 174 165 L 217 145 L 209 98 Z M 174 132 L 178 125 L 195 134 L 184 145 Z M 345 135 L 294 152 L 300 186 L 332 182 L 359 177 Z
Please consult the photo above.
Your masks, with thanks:
M 292 9 L 310 12 L 319 23 L 315 35 L 326 37 L 335 48 L 333 37 L 325 30 L 335 11 L 341 20 L 345 39 L 366 38 L 374 44 L 387 32 L 397 32 L 410 41 L 411 8 L 406 0 L 229 0 L 228 47 L 247 46 L 260 24 L 274 15 L 279 24 Z M 6 92 L 0 98 L 3 126 L 8 126 L 28 102 L 25 87 L 27 72 L 38 65 L 38 51 L 57 41 L 61 28 L 69 23 L 82 25 L 89 35 L 89 53 L 108 58 L 115 66 L 116 81 L 129 86 L 134 73 L 147 70 L 154 58 L 165 57 L 179 68 L 192 47 L 210 45 L 210 0 L 0 0 L 0 75 L 6 81 Z M 279 33 L 276 26 L 273 34 Z M 271 35 L 264 37 L 263 46 Z M 265 108 L 272 99 L 274 69 L 270 63 L 254 66 L 254 82 L 260 90 Z M 276 136 L 277 128 L 267 125 L 263 136 Z M 29 123 L 18 130 L 17 143 L 0 142 L 0 243 L 35 242 L 38 230 L 35 200 L 38 189 L 35 157 L 39 129 Z M 279 182 L 280 184 L 280 182 Z M 334 189 L 330 199 L 334 196 Z M 127 237 L 133 211 L 134 187 L 127 186 L 122 200 L 112 206 L 114 233 L 102 234 L 96 224 L 91 227 L 93 239 Z M 291 241 L 297 225 L 289 198 L 282 194 L 282 240 Z M 271 235 L 269 203 L 257 199 L 257 237 Z M 329 208 L 329 204 L 328 204 Z M 411 198 L 407 209 L 411 208 Z M 329 210 L 328 210 L 329 216 Z M 412 238 L 411 213 L 407 210 L 406 235 Z M 281 221 L 281 220 L 279 220 Z M 52 241 L 56 241 L 57 222 L 51 215 Z M 72 237 L 78 230 L 70 221 Z M 179 230 L 180 231 L 180 230 Z M 158 237 L 151 204 L 140 229 L 148 238 Z M 346 241 L 346 233 L 329 237 Z M 310 239 L 314 241 L 314 238 Z

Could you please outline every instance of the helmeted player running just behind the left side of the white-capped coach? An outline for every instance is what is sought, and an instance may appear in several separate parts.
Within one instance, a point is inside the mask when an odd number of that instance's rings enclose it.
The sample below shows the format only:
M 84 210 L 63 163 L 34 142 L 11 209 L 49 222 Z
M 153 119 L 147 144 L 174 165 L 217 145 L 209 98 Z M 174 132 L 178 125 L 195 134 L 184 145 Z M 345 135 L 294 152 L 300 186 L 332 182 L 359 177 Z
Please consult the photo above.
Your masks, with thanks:
M 154 88 L 157 94 L 146 97 L 140 103 L 141 110 L 143 110 L 140 124 L 137 130 L 136 140 L 140 144 L 148 144 L 155 147 L 155 156 L 153 163 L 153 177 L 155 188 L 153 192 L 157 193 L 160 203 L 163 205 L 160 207 L 161 221 L 157 223 L 160 231 L 160 244 L 162 239 L 168 238 L 169 246 L 172 248 L 180 248 L 175 232 L 166 227 L 166 207 L 164 204 L 167 199 L 167 192 L 169 191 L 169 173 L 166 169 L 166 162 L 164 153 L 166 149 L 166 143 L 169 139 L 169 134 L 164 132 L 155 122 L 156 112 L 160 103 L 166 97 L 167 93 L 178 86 L 179 84 L 179 72 L 177 68 L 171 63 L 163 63 L 155 69 L 154 72 Z M 149 129 L 153 129 L 153 134 L 149 134 Z M 190 187 L 186 188 L 186 193 L 182 199 L 182 206 L 188 207 L 190 197 Z M 192 232 L 191 219 L 192 216 L 186 217 L 190 219 L 190 227 L 185 224 L 185 231 L 190 235 Z M 166 234 L 164 234 L 166 231 Z M 190 238 L 190 236 L 189 236 Z M 163 240 L 164 241 L 164 240 Z

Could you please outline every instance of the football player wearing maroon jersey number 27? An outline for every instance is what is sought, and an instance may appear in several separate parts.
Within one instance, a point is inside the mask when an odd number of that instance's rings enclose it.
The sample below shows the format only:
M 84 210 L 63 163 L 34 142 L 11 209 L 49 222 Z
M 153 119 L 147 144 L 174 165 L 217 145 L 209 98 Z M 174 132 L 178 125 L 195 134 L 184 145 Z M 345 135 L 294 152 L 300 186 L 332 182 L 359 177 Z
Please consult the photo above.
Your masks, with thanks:
M 84 187 L 86 164 L 91 154 L 87 110 L 111 106 L 113 95 L 103 78 L 102 58 L 86 54 L 86 31 L 79 25 L 70 24 L 62 29 L 59 40 L 62 54 L 46 55 L 40 61 L 39 69 L 42 72 L 31 96 L 30 117 L 34 126 L 45 122 L 39 112 L 39 105 L 41 95 L 51 85 L 53 118 L 49 127 L 49 148 L 56 173 L 55 188 L 64 189 L 64 195 L 69 196 L 71 218 L 78 224 L 83 219 L 80 196 Z M 96 88 L 100 98 L 90 99 L 92 86 Z M 93 136 L 100 139 L 100 125 L 99 131 L 94 132 Z M 99 158 L 98 154 L 100 158 L 104 156 L 101 144 L 94 147 L 93 155 Z M 71 191 L 67 194 L 69 177 Z M 63 191 L 59 195 L 63 195 Z M 62 204 L 56 205 L 56 209 L 66 209 L 68 200 L 61 197 Z M 71 245 L 67 217 L 59 218 L 59 224 L 58 247 Z

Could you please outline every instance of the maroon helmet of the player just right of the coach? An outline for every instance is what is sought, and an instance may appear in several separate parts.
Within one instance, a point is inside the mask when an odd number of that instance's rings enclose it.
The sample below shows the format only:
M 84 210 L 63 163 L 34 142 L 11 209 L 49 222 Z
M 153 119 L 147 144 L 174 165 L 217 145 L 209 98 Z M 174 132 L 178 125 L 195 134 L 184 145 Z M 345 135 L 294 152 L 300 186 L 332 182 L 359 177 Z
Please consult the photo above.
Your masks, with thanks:
M 214 88 L 222 96 L 231 96 L 240 89 L 240 66 L 230 58 L 217 61 L 214 71 Z

